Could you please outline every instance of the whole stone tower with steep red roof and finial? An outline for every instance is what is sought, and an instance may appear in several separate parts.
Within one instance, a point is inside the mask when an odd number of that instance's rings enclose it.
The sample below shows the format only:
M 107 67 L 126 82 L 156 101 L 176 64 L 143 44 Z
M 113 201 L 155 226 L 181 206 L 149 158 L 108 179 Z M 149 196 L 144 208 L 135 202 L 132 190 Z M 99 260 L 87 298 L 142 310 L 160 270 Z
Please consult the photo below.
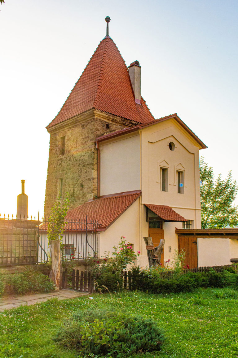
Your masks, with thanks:
M 105 20 L 108 25 L 110 18 Z M 60 112 L 46 127 L 50 150 L 45 217 L 59 193 L 64 197 L 69 192 L 70 209 L 98 196 L 97 137 L 155 120 L 143 98 L 138 100 L 138 91 L 139 62 L 128 70 L 107 29 Z

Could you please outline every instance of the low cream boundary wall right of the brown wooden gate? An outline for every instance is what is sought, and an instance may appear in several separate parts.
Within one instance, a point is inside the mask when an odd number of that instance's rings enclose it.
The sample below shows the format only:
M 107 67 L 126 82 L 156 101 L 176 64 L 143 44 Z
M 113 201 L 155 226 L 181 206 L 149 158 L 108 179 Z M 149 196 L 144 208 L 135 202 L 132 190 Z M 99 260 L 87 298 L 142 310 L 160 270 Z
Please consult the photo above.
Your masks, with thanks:
M 236 244 L 233 242 L 233 245 Z M 229 238 L 198 238 L 198 267 L 230 265 Z M 236 248 L 236 252 L 237 248 Z

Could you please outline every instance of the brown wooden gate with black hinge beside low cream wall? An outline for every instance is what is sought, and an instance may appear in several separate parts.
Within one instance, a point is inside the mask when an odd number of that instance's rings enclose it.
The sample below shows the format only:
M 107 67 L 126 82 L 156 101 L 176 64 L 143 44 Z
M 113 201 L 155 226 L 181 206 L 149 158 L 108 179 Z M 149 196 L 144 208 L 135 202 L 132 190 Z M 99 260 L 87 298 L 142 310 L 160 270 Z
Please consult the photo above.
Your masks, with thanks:
M 198 247 L 196 236 L 180 236 L 178 235 L 178 252 L 181 250 L 186 252 L 184 266 L 193 269 L 198 266 Z

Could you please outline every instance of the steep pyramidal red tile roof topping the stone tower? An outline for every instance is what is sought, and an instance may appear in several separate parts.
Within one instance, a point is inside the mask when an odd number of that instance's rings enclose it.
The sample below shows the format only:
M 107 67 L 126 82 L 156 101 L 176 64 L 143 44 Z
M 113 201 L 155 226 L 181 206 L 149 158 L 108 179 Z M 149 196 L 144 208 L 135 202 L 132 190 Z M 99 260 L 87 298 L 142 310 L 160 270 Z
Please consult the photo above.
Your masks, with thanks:
M 60 112 L 47 128 L 92 108 L 138 123 L 155 120 L 143 98 L 141 105 L 135 103 L 125 61 L 109 36 L 100 42 Z

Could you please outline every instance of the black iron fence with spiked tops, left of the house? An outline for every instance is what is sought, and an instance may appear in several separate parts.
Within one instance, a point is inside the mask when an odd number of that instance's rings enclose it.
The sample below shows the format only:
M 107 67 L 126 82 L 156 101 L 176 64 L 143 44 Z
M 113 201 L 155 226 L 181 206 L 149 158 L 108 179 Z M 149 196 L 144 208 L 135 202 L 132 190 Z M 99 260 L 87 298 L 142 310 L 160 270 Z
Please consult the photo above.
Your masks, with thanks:
M 49 261 L 49 221 L 0 214 L 0 266 L 29 265 Z M 62 260 L 81 260 L 97 255 L 98 222 L 68 219 L 61 238 Z

